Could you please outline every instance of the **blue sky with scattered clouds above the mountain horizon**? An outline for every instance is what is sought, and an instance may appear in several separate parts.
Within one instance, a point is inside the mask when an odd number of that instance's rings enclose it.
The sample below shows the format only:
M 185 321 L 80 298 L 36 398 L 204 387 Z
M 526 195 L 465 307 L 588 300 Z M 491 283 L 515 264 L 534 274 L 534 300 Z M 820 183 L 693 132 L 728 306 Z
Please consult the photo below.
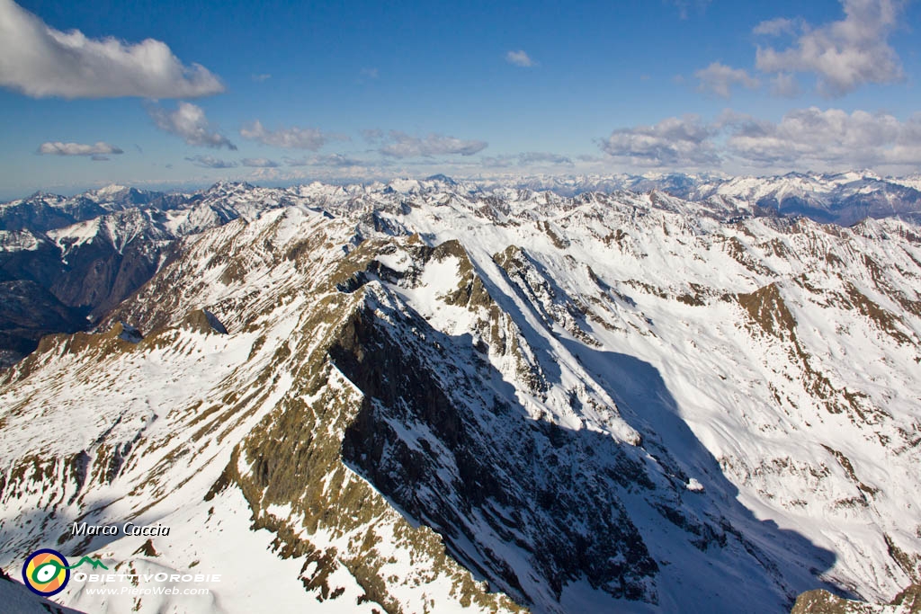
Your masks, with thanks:
M 0 0 L 0 198 L 921 171 L 921 3 Z

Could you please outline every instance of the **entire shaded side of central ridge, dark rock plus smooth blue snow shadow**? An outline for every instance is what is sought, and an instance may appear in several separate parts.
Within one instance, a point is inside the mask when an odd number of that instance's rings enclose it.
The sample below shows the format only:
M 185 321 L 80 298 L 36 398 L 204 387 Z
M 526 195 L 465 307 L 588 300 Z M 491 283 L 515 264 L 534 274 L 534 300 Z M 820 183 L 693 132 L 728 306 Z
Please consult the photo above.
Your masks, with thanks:
M 333 364 L 365 395 L 344 434 L 344 460 L 519 603 L 577 611 L 585 596 L 572 585 L 584 583 L 663 611 L 769 612 L 792 604 L 814 585 L 813 573 L 834 564 L 833 552 L 736 502 L 738 490 L 682 422 L 651 365 L 578 350 L 599 369 L 595 381 L 620 391 L 617 407 L 630 411 L 643 437 L 641 446 L 618 446 L 610 436 L 534 420 L 469 335 L 439 334 L 410 314 L 413 332 L 395 341 L 393 318 L 368 310 L 331 349 Z M 427 349 L 433 342 L 449 364 Z M 700 477 L 701 492 L 687 489 L 689 474 Z M 650 519 L 656 550 L 671 552 L 658 562 L 646 541 Z M 696 560 L 701 585 L 744 582 L 747 590 L 682 602 L 666 588 L 672 556 L 682 565 Z

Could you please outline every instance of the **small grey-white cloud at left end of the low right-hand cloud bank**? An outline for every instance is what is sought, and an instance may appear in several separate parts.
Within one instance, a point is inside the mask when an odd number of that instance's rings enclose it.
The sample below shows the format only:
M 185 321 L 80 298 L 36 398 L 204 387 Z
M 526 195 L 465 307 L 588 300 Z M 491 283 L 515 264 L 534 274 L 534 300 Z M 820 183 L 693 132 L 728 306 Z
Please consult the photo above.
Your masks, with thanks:
M 635 166 L 718 166 L 719 156 L 712 143 L 717 132 L 717 127 L 701 122 L 696 115 L 685 115 L 653 126 L 615 130 L 600 145 L 609 156 Z

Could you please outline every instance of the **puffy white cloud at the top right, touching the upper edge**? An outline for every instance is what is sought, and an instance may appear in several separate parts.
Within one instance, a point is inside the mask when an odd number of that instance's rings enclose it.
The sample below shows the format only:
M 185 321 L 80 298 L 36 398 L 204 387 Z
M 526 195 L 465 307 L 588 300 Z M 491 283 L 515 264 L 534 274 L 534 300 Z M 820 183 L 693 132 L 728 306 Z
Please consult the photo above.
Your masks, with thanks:
M 823 96 L 842 96 L 869 83 L 904 78 L 902 64 L 888 38 L 898 25 L 903 0 L 842 0 L 845 18 L 821 28 L 803 25 L 799 39 L 776 50 L 758 47 L 755 65 L 765 73 L 812 73 Z M 789 29 L 778 20 L 764 22 L 755 33 Z

